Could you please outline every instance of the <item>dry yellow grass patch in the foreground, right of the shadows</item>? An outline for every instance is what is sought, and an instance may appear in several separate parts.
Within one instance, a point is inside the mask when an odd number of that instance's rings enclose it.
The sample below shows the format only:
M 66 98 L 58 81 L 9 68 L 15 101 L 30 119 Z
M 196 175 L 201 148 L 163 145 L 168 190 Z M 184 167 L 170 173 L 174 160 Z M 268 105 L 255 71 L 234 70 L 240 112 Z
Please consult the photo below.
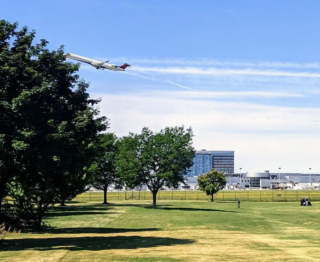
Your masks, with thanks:
M 121 235 L 136 235 L 125 233 Z M 247 234 L 216 229 L 184 228 L 179 231 L 140 232 L 140 236 L 193 239 L 189 245 L 112 250 L 113 254 L 137 257 L 165 256 L 184 261 L 320 261 L 320 248 L 305 240 L 281 240 L 272 235 Z M 317 251 L 316 251 L 317 250 Z M 310 255 L 312 254 L 312 255 Z M 288 261 L 289 261 L 288 260 Z

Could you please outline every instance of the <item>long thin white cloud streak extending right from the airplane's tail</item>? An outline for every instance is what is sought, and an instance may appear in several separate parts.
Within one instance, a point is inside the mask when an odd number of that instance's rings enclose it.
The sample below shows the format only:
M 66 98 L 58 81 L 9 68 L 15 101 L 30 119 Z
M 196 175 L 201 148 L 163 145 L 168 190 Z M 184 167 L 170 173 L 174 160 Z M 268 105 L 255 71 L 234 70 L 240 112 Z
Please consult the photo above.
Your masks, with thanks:
M 165 74 L 185 75 L 265 75 L 265 76 L 288 76 L 288 77 L 320 77 L 318 73 L 290 72 L 280 70 L 256 70 L 256 69 L 234 69 L 234 68 L 199 68 L 199 67 L 133 67 L 136 72 L 156 72 Z

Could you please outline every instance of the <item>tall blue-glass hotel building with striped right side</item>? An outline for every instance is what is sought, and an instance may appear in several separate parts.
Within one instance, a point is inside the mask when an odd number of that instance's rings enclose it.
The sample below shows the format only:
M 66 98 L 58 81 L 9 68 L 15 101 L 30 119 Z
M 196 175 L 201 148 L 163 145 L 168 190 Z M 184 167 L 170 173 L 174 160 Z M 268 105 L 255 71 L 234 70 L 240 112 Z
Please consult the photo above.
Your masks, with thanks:
M 225 174 L 233 174 L 235 172 L 235 151 L 207 151 L 202 149 L 196 151 L 193 159 L 193 166 L 188 172 L 188 177 L 203 175 L 206 172 L 215 169 Z

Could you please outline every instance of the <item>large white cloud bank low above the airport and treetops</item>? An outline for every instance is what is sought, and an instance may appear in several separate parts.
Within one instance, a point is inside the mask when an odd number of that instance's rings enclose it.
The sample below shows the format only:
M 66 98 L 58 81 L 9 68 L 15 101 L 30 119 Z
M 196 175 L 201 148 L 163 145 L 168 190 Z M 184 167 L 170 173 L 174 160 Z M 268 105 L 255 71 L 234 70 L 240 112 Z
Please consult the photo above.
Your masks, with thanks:
M 140 132 L 143 126 L 158 131 L 184 124 L 193 127 L 196 149 L 235 150 L 236 170 L 281 167 L 284 172 L 300 172 L 312 167 L 320 172 L 320 126 L 312 122 L 319 120 L 319 108 L 191 100 L 190 93 L 96 93 L 92 97 L 102 97 L 101 114 L 111 118 L 110 131 L 119 136 Z

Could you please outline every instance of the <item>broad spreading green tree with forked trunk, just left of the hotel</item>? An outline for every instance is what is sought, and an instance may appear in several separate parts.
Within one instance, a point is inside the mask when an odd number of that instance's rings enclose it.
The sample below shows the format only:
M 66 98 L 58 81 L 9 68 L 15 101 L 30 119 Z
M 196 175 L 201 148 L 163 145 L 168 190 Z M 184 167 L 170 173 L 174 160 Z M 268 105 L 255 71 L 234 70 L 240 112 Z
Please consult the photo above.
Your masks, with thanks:
M 144 127 L 141 134 L 130 133 L 121 140 L 117 172 L 129 188 L 146 185 L 153 195 L 163 186 L 178 187 L 193 165 L 195 149 L 192 129 L 166 127 L 153 132 Z

